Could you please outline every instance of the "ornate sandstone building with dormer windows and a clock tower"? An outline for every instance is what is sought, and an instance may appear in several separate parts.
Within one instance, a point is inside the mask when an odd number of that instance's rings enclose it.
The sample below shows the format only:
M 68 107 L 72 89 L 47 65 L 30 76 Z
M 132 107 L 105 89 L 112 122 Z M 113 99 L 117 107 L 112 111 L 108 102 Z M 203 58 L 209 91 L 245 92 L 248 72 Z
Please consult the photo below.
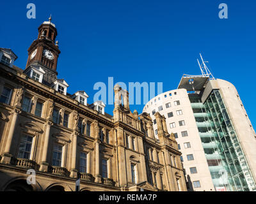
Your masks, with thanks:
M 148 113 L 129 108 L 115 86 L 113 116 L 89 105 L 84 91 L 68 94 L 57 78 L 60 50 L 51 18 L 38 27 L 26 68 L 0 48 L 0 191 L 186 191 L 174 135 L 158 112 L 157 138 Z M 124 101 L 124 104 L 121 102 Z M 27 170 L 36 184 L 27 184 Z

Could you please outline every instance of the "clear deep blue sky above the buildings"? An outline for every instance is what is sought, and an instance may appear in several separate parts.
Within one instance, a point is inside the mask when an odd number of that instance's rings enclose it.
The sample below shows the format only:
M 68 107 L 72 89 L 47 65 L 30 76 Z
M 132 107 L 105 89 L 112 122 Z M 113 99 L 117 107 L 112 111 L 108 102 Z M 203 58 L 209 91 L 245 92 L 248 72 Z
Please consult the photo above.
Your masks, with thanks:
M 26 18 L 28 3 L 35 3 L 36 19 Z M 227 3 L 228 19 L 218 18 L 220 3 Z M 61 50 L 58 78 L 71 94 L 86 91 L 88 103 L 97 92 L 93 85 L 107 84 L 108 77 L 176 89 L 183 73 L 200 74 L 202 52 L 214 77 L 236 86 L 255 128 L 255 1 L 3 1 L 0 10 L 0 47 L 12 48 L 20 68 L 38 26 L 52 14 Z M 112 114 L 113 106 L 106 111 Z

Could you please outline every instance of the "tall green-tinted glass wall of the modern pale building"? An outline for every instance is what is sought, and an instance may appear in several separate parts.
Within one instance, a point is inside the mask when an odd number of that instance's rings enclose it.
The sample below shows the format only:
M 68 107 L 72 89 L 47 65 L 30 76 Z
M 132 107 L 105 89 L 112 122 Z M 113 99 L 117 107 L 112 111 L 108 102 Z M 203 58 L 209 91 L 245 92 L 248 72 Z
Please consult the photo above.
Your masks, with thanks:
M 243 150 L 219 90 L 203 104 L 189 96 L 216 191 L 255 191 Z

